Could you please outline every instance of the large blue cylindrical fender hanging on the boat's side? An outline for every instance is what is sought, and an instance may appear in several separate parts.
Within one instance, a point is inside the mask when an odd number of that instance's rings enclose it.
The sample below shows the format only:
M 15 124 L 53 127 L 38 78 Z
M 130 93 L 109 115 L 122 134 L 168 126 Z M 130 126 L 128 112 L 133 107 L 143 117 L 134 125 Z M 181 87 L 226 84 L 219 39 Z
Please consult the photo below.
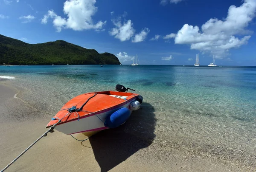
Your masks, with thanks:
M 105 127 L 116 128 L 123 124 L 131 116 L 131 112 L 127 107 L 123 107 L 116 112 L 107 116 L 105 121 Z

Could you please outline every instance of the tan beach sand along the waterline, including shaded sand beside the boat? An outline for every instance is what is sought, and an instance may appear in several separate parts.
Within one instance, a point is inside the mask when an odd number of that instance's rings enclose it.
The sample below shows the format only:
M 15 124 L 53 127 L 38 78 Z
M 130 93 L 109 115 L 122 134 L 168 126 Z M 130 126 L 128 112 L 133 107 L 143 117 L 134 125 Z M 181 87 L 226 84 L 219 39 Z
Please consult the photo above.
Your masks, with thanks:
M 0 81 L 1 82 L 1 81 Z M 0 169 L 3 169 L 44 132 L 51 119 L 18 98 L 18 90 L 0 83 Z M 18 97 L 18 94 L 17 94 Z M 41 117 L 40 117 L 41 116 Z M 136 172 L 227 172 L 253 171 L 236 164 L 222 164 L 185 150 L 154 144 L 121 127 L 102 131 L 87 141 L 76 141 L 58 131 L 49 133 L 7 170 L 45 171 L 136 171 Z M 85 139 L 82 134 L 74 135 Z

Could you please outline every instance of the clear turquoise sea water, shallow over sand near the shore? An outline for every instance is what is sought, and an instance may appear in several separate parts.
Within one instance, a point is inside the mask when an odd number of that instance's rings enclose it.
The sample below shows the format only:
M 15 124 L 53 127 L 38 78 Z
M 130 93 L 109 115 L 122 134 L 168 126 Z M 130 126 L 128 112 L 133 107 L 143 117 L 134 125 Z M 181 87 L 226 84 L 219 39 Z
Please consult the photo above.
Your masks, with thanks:
M 17 97 L 47 117 L 81 93 L 114 90 L 116 84 L 133 88 L 144 103 L 133 113 L 130 133 L 255 166 L 256 67 L 0 66 L 0 78 L 15 85 Z

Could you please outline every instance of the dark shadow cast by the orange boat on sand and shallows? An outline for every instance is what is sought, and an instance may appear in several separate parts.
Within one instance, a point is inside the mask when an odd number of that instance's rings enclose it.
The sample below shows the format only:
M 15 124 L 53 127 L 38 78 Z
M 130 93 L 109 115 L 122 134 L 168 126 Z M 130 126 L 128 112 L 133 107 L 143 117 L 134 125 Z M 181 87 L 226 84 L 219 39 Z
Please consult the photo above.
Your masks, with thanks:
M 155 123 L 154 107 L 143 102 L 140 110 L 134 111 L 125 124 L 90 137 L 101 172 L 109 171 L 138 150 L 151 145 L 155 137 Z

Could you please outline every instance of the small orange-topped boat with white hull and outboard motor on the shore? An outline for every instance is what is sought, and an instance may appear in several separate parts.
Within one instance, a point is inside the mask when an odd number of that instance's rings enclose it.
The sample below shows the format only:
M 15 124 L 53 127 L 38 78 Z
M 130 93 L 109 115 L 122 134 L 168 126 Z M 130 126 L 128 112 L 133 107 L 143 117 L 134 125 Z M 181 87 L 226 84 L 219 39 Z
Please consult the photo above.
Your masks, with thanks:
M 117 91 L 85 93 L 74 97 L 47 124 L 46 128 L 64 134 L 83 133 L 91 136 L 101 130 L 125 123 L 133 110 L 138 110 L 143 97 L 128 93 L 130 88 L 116 85 Z M 133 90 L 135 91 L 135 90 Z

